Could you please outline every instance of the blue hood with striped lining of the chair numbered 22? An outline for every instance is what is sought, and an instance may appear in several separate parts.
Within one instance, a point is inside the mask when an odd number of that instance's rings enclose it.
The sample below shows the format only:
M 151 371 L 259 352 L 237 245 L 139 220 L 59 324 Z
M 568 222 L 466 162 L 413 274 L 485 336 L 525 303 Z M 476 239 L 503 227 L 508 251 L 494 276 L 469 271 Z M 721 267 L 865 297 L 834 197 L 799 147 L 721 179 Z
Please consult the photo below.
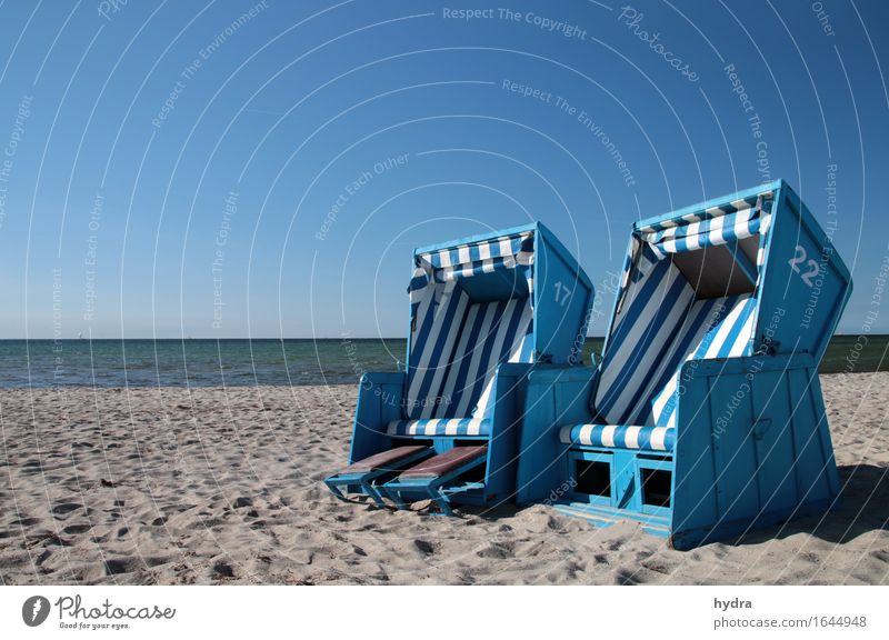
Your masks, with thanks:
M 790 242 L 796 248 L 783 247 Z M 770 252 L 823 259 L 807 278 L 793 260 L 768 263 Z M 591 409 L 606 423 L 672 427 L 687 361 L 757 352 L 820 360 L 848 282 L 825 233 L 780 181 L 638 222 Z M 806 309 L 813 297 L 817 314 Z

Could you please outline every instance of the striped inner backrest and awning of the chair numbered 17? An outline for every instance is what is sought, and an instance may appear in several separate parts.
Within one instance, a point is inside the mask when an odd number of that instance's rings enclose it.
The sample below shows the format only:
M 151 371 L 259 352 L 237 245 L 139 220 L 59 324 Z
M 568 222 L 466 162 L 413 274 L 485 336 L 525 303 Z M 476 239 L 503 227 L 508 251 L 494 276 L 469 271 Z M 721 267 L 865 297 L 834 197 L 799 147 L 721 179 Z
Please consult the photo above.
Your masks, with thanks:
M 497 366 L 533 359 L 531 231 L 416 257 L 404 413 L 485 418 Z

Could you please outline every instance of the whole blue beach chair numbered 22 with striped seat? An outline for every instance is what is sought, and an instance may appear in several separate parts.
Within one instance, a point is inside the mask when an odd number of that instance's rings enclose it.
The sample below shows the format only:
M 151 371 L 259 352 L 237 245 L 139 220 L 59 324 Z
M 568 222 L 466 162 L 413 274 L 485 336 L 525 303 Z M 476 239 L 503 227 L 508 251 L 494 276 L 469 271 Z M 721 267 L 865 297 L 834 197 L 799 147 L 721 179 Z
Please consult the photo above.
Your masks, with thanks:
M 678 549 L 836 507 L 832 230 L 783 181 L 633 224 L 598 367 L 529 374 L 519 502 Z

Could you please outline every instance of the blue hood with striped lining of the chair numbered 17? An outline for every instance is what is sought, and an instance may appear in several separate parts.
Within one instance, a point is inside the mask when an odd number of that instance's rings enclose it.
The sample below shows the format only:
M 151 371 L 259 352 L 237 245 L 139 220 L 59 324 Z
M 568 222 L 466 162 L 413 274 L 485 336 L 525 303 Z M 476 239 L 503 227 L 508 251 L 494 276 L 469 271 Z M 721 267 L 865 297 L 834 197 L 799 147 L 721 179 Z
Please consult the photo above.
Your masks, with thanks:
M 560 299 L 537 296 L 556 282 Z M 408 291 L 408 420 L 486 419 L 499 363 L 579 359 L 592 300 L 541 224 L 418 249 Z

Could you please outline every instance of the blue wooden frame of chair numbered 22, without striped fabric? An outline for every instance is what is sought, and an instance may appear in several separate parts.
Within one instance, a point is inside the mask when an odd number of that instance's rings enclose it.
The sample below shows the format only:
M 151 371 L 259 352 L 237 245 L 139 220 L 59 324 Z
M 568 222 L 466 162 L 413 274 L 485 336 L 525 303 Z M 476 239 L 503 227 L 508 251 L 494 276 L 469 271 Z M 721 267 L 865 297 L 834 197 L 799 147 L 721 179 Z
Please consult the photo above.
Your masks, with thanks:
M 665 453 L 562 443 L 561 427 L 595 419 L 599 368 L 532 367 L 519 441 L 519 503 L 555 502 L 561 512 L 602 526 L 633 519 L 678 549 L 839 504 L 818 363 L 852 284 L 829 233 L 782 180 L 642 220 L 633 232 L 763 192 L 771 192 L 772 208 L 753 293 L 753 354 L 682 366 L 676 446 Z M 611 327 L 620 299 L 618 290 Z M 725 411 L 736 398 L 738 408 Z M 578 460 L 606 457 L 612 470 L 608 499 L 571 488 Z M 667 506 L 651 503 L 641 490 L 646 469 L 670 474 Z

